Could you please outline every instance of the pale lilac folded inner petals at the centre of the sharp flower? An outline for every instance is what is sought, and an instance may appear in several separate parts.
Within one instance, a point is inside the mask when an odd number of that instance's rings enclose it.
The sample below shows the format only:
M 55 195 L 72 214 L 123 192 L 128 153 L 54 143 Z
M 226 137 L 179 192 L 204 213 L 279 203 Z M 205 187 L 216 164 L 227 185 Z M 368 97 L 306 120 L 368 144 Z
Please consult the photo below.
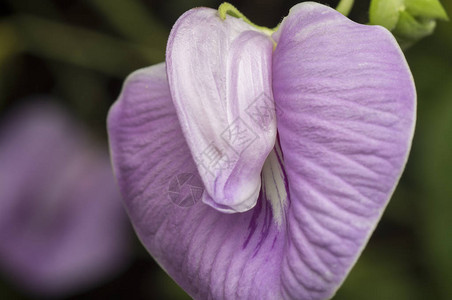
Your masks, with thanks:
M 206 193 L 223 212 L 256 204 L 276 137 L 271 39 L 241 19 L 196 8 L 179 18 L 167 72 L 182 131 Z

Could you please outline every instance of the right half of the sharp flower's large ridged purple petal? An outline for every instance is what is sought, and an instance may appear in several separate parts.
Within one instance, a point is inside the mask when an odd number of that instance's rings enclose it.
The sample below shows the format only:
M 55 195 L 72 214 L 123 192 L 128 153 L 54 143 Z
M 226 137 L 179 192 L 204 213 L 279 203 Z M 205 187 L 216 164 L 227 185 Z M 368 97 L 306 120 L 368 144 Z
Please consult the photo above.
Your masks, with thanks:
M 273 36 L 288 177 L 285 298 L 326 299 L 374 230 L 405 165 L 415 89 L 391 34 L 315 3 Z

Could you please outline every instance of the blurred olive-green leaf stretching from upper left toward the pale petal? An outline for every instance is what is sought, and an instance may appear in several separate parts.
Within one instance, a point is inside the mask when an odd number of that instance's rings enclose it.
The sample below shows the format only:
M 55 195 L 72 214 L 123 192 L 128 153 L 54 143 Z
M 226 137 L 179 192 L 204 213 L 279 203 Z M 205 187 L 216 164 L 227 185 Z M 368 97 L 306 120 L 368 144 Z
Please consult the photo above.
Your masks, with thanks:
M 144 47 L 29 15 L 16 15 L 8 23 L 17 31 L 27 52 L 109 75 L 124 77 L 164 60 L 165 45 Z

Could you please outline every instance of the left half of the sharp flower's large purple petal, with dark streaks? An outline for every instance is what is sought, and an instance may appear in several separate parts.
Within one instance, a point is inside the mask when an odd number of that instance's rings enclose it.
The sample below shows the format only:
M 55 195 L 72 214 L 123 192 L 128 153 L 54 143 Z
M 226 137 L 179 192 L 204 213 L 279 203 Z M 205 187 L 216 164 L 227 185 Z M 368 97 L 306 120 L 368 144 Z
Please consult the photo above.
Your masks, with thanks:
M 195 299 L 281 298 L 285 232 L 270 222 L 267 202 L 224 214 L 202 201 L 180 207 L 168 197 L 172 178 L 199 174 L 163 64 L 127 79 L 108 128 L 114 169 L 138 236 L 182 288 Z

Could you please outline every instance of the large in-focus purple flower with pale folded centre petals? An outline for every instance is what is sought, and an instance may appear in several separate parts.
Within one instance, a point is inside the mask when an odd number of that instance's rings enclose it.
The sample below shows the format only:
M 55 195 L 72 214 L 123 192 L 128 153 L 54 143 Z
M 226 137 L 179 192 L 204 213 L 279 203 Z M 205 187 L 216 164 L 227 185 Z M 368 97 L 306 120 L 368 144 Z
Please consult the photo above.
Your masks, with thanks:
M 327 299 L 402 173 L 415 98 L 382 27 L 302 3 L 270 36 L 196 8 L 112 107 L 114 169 L 141 241 L 194 298 Z

